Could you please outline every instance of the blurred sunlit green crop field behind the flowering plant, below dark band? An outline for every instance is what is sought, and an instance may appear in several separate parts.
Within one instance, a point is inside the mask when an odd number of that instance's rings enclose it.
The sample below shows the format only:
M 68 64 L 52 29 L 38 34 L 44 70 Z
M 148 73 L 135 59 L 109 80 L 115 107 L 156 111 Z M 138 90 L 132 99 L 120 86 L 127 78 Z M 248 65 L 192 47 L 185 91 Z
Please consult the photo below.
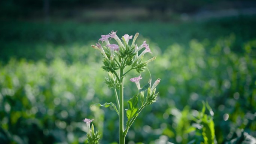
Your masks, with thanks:
M 131 126 L 127 143 L 203 142 L 199 136 L 211 134 L 194 131 L 193 117 L 200 114 L 201 124 L 209 126 L 211 132 L 214 122 L 217 143 L 253 139 L 256 36 L 251 28 L 255 20 L 240 17 L 191 24 L 131 22 L 129 27 L 122 22 L 2 22 L 0 141 L 84 143 L 86 125 L 82 119 L 88 117 L 95 119 L 102 144 L 116 144 L 115 110 L 93 106 L 115 102 L 115 96 L 104 83 L 107 74 L 101 69 L 101 55 L 90 46 L 111 30 L 119 30 L 118 36 L 136 32 L 146 36 L 139 36 L 138 42 L 149 42 L 157 56 L 149 65 L 152 79 L 161 78 L 158 100 L 145 108 Z M 142 73 L 142 77 L 148 76 Z M 131 91 L 135 85 L 128 78 L 125 101 L 135 94 Z M 142 79 L 141 85 L 146 84 L 147 79 Z M 202 110 L 202 101 L 208 102 L 206 107 L 211 107 L 214 116 Z

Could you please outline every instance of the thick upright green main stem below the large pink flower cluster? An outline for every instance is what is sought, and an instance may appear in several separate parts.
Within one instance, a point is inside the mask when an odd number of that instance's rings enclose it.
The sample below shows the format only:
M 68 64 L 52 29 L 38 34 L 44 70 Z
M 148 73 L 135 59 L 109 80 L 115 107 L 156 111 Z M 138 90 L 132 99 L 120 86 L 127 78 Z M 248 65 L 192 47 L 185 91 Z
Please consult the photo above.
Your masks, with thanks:
M 120 108 L 119 108 L 119 144 L 125 143 L 124 133 L 124 77 L 123 77 L 123 68 L 120 68 L 120 88 L 119 88 L 119 99 L 120 99 Z

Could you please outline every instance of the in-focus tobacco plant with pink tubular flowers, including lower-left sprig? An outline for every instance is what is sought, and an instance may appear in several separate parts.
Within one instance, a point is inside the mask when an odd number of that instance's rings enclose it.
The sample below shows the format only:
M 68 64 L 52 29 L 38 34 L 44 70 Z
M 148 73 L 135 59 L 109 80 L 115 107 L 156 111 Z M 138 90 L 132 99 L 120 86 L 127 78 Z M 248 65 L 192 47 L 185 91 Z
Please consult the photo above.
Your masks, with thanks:
M 156 101 L 156 97 L 158 95 L 158 93 L 156 93 L 156 86 L 160 82 L 160 79 L 157 79 L 155 83 L 151 85 L 150 76 L 149 82 L 141 88 L 140 80 L 142 77 L 140 73 L 144 72 L 144 69 L 149 62 L 155 60 L 156 57 L 143 61 L 143 56 L 146 53 L 152 54 L 152 52 L 149 49 L 149 45 L 146 43 L 146 40 L 139 47 L 135 44 L 135 41 L 139 35 L 138 33 L 135 34 L 131 45 L 128 45 L 129 40 L 132 39 L 132 36 L 125 34 L 120 40 L 116 35 L 116 32 L 117 31 L 112 31 L 107 35 L 101 35 L 101 38 L 99 39 L 101 44 L 98 42 L 96 43 L 96 46 L 92 46 L 92 48 L 100 50 L 101 54 L 103 55 L 102 68 L 108 72 L 108 77 L 105 78 L 105 82 L 110 89 L 113 89 L 116 104 L 113 102 L 106 102 L 105 104 L 95 105 L 102 107 L 111 106 L 116 110 L 116 113 L 119 116 L 119 144 L 124 144 L 125 136 L 127 135 L 129 128 L 137 118 L 138 114 L 143 110 L 144 107 L 153 104 Z M 111 44 L 111 39 L 115 39 L 118 45 Z M 126 110 L 127 122 L 126 127 L 124 128 L 124 79 L 128 77 L 127 74 L 131 70 L 136 70 L 140 76 L 130 79 L 131 82 L 136 84 L 138 91 L 137 94 L 128 100 L 129 107 Z M 85 119 L 83 121 L 86 122 L 88 127 L 87 139 L 89 144 L 98 144 L 100 135 L 98 135 L 98 132 L 94 133 L 93 125 L 90 130 L 90 123 L 92 120 Z

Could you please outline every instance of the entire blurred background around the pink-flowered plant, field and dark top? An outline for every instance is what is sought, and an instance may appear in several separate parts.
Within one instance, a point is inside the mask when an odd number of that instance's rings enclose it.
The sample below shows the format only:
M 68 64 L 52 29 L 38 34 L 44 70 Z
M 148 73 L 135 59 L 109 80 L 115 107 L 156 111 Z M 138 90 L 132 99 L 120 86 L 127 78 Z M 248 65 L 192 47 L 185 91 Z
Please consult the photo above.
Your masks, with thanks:
M 191 117 L 207 101 L 216 141 L 256 137 L 256 2 L 253 0 L 1 0 L 0 143 L 85 143 L 90 118 L 101 144 L 117 144 L 118 116 L 100 53 L 102 34 L 140 33 L 161 78 L 128 144 L 187 144 Z M 125 80 L 125 100 L 135 94 Z M 149 79 L 142 73 L 141 85 Z M 125 104 L 127 107 L 127 104 Z

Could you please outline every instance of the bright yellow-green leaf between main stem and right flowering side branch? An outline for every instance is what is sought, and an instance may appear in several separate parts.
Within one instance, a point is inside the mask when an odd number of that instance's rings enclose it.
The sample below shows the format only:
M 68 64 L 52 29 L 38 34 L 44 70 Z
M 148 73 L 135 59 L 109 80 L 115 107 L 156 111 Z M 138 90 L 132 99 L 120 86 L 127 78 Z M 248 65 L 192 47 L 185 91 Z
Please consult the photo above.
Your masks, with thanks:
M 126 111 L 126 116 L 128 121 L 133 117 L 138 116 L 138 95 L 134 95 L 131 99 L 128 100 L 129 108 Z

